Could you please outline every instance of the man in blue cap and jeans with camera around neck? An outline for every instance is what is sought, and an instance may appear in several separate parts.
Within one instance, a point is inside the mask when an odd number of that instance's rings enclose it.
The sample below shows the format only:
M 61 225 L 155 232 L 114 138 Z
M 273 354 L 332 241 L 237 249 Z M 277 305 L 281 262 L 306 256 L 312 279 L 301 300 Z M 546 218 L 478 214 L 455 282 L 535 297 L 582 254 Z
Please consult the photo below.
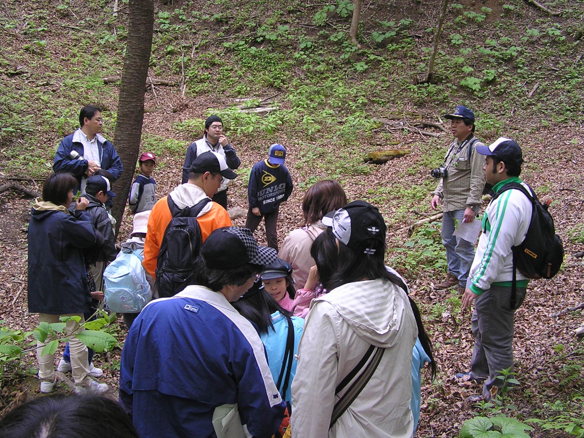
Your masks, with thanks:
M 484 157 L 476 149 L 484 144 L 474 135 L 475 117 L 467 107 L 458 105 L 453 113 L 446 114 L 444 118 L 451 120 L 454 141 L 440 168 L 432 171 L 434 178 L 439 178 L 440 182 L 433 192 L 431 205 L 434 210 L 440 203 L 443 206 L 442 244 L 446 248 L 449 276 L 442 283 L 434 284 L 434 288 L 457 286 L 462 292 L 474 258 L 474 242 L 456 237 L 453 232 L 456 229 L 455 220 L 458 223 L 472 222 L 482 204 Z

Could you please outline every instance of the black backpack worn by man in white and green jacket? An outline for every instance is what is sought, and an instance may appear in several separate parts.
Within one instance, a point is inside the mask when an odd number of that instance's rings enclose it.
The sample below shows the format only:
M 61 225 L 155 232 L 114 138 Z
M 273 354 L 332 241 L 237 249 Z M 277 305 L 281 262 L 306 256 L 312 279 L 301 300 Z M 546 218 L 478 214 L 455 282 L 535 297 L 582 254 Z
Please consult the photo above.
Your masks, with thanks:
M 513 246 L 513 286 L 511 293 L 512 307 L 515 307 L 515 267 L 530 279 L 551 279 L 558 273 L 564 261 L 562 239 L 555 234 L 554 220 L 547 204 L 541 204 L 536 194 L 532 194 L 523 185 L 510 182 L 495 193 L 493 200 L 506 190 L 520 190 L 531 201 L 531 221 L 525 239 L 518 246 Z

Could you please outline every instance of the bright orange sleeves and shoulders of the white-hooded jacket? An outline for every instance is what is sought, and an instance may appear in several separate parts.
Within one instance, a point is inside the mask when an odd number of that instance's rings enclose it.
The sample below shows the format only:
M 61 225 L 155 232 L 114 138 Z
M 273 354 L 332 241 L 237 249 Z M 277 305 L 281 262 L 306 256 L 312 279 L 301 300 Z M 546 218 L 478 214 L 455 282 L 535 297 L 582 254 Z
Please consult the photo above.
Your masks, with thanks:
M 207 211 L 207 213 L 202 216 L 197 217 L 197 222 L 201 228 L 203 242 L 213 230 L 217 230 L 217 228 L 221 227 L 231 227 L 231 218 L 229 217 L 229 214 L 227 214 L 227 211 L 225 211 L 225 208 L 215 202 L 212 204 L 211 210 Z M 162 199 L 159 199 L 152 208 L 150 217 L 148 218 L 148 232 L 144 242 L 144 261 L 142 261 L 142 266 L 144 266 L 144 269 L 147 270 L 152 278 L 156 278 L 155 273 L 158 252 L 162 245 L 164 232 L 166 231 L 166 227 L 168 227 L 171 219 L 171 210 L 168 208 L 168 200 L 165 196 Z

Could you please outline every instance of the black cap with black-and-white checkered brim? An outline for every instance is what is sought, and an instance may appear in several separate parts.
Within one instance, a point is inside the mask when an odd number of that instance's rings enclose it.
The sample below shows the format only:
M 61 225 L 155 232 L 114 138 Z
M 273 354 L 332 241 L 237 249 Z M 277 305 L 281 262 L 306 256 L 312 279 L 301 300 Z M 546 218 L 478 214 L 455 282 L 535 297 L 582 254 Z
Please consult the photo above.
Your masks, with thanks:
M 201 247 L 201 255 L 211 269 L 233 269 L 245 263 L 270 265 L 277 253 L 258 245 L 248 228 L 224 227 L 211 233 Z

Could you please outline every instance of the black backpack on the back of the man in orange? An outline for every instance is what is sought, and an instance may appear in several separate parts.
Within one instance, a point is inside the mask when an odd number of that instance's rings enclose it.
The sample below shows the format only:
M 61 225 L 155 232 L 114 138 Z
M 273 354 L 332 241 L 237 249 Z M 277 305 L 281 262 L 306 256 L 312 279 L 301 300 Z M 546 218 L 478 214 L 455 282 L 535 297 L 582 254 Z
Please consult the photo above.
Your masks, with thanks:
M 192 284 L 194 259 L 201 249 L 201 229 L 197 215 L 209 198 L 193 207 L 180 210 L 168 196 L 168 208 L 172 219 L 166 227 L 156 266 L 156 286 L 160 298 L 173 297 Z

